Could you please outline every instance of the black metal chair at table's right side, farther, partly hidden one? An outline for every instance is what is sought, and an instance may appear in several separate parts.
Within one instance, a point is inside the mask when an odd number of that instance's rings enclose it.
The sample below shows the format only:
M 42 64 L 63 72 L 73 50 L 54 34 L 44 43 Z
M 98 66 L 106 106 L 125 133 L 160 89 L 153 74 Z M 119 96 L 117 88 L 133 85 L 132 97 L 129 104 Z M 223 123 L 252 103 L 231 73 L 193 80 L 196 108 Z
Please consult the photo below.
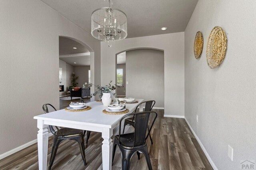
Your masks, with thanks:
M 136 112 L 137 109 L 138 109 L 141 105 L 144 105 L 144 103 L 145 103 L 145 109 L 144 109 L 144 111 L 151 111 L 152 108 L 154 107 L 156 101 L 154 101 L 154 100 L 144 101 L 144 102 L 142 102 L 142 103 L 140 103 L 140 104 L 137 105 L 137 107 L 136 107 L 136 109 L 135 109 L 134 112 Z M 132 125 L 132 127 L 134 127 L 134 116 L 133 116 L 132 118 L 128 118 L 128 119 L 125 119 L 125 120 L 124 120 L 124 129 L 125 129 L 126 125 Z M 123 133 L 124 133 L 124 129 L 123 129 Z M 151 137 L 150 134 L 149 134 L 149 138 L 150 138 L 151 144 L 153 144 L 153 140 L 152 140 L 152 137 Z

